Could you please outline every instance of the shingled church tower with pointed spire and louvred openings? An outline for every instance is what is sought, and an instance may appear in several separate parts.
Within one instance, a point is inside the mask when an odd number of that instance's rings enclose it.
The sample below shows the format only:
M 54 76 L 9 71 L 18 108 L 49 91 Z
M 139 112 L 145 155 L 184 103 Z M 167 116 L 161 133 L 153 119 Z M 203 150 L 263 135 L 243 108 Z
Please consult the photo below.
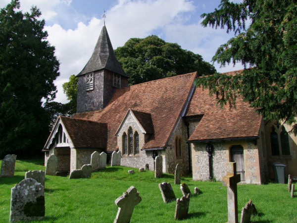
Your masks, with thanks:
M 128 86 L 128 75 L 115 57 L 105 25 L 77 77 L 77 113 L 103 109 L 117 88 Z

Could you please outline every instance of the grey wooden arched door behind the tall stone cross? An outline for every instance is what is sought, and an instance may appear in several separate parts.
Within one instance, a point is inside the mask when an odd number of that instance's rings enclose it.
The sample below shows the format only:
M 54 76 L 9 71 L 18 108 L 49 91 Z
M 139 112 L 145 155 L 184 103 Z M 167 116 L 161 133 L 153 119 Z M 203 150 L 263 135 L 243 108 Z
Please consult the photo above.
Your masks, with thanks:
M 244 148 L 242 146 L 231 147 L 231 162 L 236 162 L 236 171 L 240 173 L 241 181 L 246 181 Z

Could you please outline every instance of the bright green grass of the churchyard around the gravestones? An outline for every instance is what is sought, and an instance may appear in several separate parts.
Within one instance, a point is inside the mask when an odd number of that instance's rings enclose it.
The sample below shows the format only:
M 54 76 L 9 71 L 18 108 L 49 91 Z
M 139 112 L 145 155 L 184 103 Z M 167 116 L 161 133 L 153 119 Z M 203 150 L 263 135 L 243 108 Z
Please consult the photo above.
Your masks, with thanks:
M 17 160 L 14 177 L 0 178 L 0 222 L 9 221 L 10 189 L 24 178 L 25 171 L 34 169 L 44 170 L 43 160 Z M 134 169 L 135 174 L 128 174 L 129 169 Z M 92 173 L 90 179 L 69 180 L 47 175 L 46 217 L 40 222 L 113 222 L 117 213 L 115 199 L 132 185 L 139 191 L 142 202 L 135 207 L 131 223 L 174 222 L 175 202 L 164 204 L 158 188 L 158 183 L 165 181 L 171 183 L 176 197 L 180 198 L 182 193 L 179 185 L 174 184 L 173 174 L 156 179 L 153 171 L 107 167 Z M 187 183 L 192 192 L 198 187 L 202 194 L 191 197 L 188 218 L 181 222 L 228 221 L 227 189 L 221 182 L 193 181 L 191 177 L 182 177 L 182 182 Z M 287 184 L 238 185 L 239 219 L 249 199 L 259 213 L 252 217 L 252 222 L 297 222 L 297 197 L 290 197 Z

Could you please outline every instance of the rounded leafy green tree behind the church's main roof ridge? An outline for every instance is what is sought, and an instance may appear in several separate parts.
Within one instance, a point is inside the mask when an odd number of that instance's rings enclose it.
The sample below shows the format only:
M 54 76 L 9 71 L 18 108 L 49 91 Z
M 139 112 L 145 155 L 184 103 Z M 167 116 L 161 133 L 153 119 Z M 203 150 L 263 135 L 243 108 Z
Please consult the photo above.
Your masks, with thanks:
M 114 52 L 129 75 L 129 85 L 194 71 L 198 71 L 199 75 L 215 72 L 213 65 L 205 62 L 200 55 L 157 36 L 131 38 Z

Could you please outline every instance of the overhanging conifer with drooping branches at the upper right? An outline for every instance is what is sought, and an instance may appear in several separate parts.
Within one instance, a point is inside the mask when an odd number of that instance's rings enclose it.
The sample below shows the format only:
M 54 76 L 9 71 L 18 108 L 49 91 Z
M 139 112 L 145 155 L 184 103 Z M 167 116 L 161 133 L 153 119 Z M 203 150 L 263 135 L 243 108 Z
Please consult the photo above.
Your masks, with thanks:
M 219 9 L 202 14 L 203 26 L 226 28 L 235 37 L 221 45 L 212 60 L 241 62 L 250 68 L 235 76 L 216 73 L 197 85 L 235 106 L 241 94 L 266 119 L 293 124 L 297 133 L 297 2 L 286 0 L 221 0 Z M 245 22 L 250 20 L 246 29 Z

